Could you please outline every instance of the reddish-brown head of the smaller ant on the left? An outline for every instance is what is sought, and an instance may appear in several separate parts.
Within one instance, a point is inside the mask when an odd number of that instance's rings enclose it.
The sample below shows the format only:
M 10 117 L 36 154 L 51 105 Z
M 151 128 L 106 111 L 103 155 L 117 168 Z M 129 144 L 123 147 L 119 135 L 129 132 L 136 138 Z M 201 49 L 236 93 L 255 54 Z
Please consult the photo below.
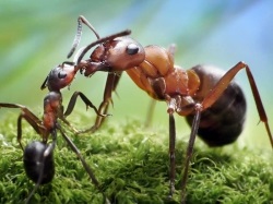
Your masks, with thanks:
M 76 74 L 73 62 L 63 62 L 62 64 L 54 68 L 40 88 L 48 87 L 49 91 L 60 91 L 70 85 Z

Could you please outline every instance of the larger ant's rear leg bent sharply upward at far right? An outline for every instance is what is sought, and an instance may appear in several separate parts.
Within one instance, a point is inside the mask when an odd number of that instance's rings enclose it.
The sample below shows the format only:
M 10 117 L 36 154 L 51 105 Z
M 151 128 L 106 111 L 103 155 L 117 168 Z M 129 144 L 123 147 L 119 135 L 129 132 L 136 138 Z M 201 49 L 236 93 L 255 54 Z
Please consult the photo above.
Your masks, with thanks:
M 233 67 L 230 70 L 228 70 L 225 73 L 225 75 L 217 82 L 217 84 L 214 86 L 214 88 L 207 94 L 207 96 L 201 103 L 202 108 L 204 110 L 204 109 L 209 108 L 210 106 L 212 106 L 218 99 L 218 97 L 223 94 L 223 92 L 226 89 L 229 82 L 234 79 L 234 76 L 241 69 L 246 69 L 248 81 L 249 81 L 249 84 L 250 84 L 250 87 L 251 87 L 251 91 L 253 94 L 253 98 L 256 101 L 256 106 L 257 106 L 257 110 L 258 110 L 260 120 L 265 125 L 265 129 L 266 129 L 266 132 L 268 132 L 268 135 L 270 139 L 270 143 L 271 143 L 271 146 L 273 148 L 273 137 L 272 137 L 271 130 L 269 127 L 268 116 L 266 116 L 266 112 L 264 110 L 258 87 L 256 85 L 254 77 L 253 77 L 248 64 L 246 64 L 245 62 L 238 62 L 235 67 Z

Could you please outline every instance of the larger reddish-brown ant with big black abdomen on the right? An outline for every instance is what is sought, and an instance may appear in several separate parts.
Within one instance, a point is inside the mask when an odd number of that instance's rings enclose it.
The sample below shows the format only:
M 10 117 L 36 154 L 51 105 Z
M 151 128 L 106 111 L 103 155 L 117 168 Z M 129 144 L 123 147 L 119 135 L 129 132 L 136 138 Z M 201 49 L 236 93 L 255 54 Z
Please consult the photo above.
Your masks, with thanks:
M 81 23 L 91 25 L 86 19 L 80 16 L 78 31 L 82 28 Z M 75 39 L 79 39 L 79 35 Z M 75 40 L 74 45 L 79 41 Z M 98 109 L 100 113 L 106 113 L 107 105 L 111 100 L 111 92 L 116 89 L 122 71 L 126 71 L 131 80 L 153 99 L 167 103 L 170 196 L 175 191 L 174 113 L 186 117 L 191 125 L 181 181 L 181 203 L 186 202 L 186 184 L 195 135 L 198 134 L 209 146 L 223 146 L 235 142 L 242 131 L 246 99 L 239 85 L 233 81 L 242 69 L 247 72 L 260 120 L 265 124 L 273 147 L 264 107 L 250 68 L 245 62 L 238 62 L 227 72 L 207 65 L 195 65 L 183 70 L 174 64 L 174 47 L 165 49 L 151 45 L 143 48 L 130 37 L 115 37 L 115 35 L 94 48 L 87 60 L 82 60 L 93 47 L 91 44 L 83 49 L 75 65 L 85 76 L 91 76 L 97 71 L 108 72 L 108 76 L 111 73 L 111 79 L 107 79 L 103 106 Z M 96 125 L 98 128 L 100 123 Z

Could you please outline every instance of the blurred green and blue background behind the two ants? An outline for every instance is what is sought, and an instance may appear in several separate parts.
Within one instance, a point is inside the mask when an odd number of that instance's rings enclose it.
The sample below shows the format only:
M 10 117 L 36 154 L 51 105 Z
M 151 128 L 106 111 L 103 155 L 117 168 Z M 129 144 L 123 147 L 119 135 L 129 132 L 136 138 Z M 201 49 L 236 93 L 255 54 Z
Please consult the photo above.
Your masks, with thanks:
M 23 104 L 41 116 L 46 91 L 39 87 L 48 72 L 67 60 L 78 16 L 84 15 L 100 36 L 130 28 L 132 37 L 143 46 L 167 47 L 175 43 L 176 63 L 185 69 L 207 63 L 228 70 L 238 61 L 246 61 L 256 77 L 273 129 L 272 8 L 271 0 L 1 0 L 0 101 Z M 81 46 L 93 40 L 95 36 L 84 27 Z M 63 91 L 64 106 L 74 91 L 85 93 L 98 106 L 105 77 L 105 73 L 97 73 L 92 79 L 79 74 L 70 89 Z M 270 149 L 263 124 L 257 125 L 259 117 L 245 71 L 236 80 L 248 100 L 248 120 L 237 144 Z M 114 101 L 109 122 L 123 122 L 132 117 L 145 121 L 150 98 L 126 74 Z M 84 111 L 83 104 L 79 104 L 78 110 Z M 1 110 L 0 119 L 10 111 Z M 90 112 L 86 118 L 94 116 Z M 158 103 L 154 128 L 166 125 L 167 130 L 167 118 L 166 105 Z M 87 125 L 90 121 L 82 122 Z M 190 129 L 183 118 L 177 117 L 177 127 L 178 136 L 187 140 Z

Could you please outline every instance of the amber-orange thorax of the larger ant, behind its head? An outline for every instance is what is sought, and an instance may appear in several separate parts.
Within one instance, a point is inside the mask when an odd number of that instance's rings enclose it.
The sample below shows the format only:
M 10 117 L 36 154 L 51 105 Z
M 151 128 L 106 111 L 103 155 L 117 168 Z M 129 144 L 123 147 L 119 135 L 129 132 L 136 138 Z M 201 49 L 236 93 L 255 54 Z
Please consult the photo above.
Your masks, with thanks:
M 192 70 L 185 71 L 175 65 L 174 56 L 165 48 L 147 46 L 144 50 L 145 60 L 141 64 L 126 70 L 128 75 L 141 89 L 156 100 L 168 100 L 169 97 L 179 96 L 175 111 L 180 116 L 190 113 L 185 112 L 182 106 L 192 103 L 188 97 L 193 96 L 198 91 L 199 76 Z

